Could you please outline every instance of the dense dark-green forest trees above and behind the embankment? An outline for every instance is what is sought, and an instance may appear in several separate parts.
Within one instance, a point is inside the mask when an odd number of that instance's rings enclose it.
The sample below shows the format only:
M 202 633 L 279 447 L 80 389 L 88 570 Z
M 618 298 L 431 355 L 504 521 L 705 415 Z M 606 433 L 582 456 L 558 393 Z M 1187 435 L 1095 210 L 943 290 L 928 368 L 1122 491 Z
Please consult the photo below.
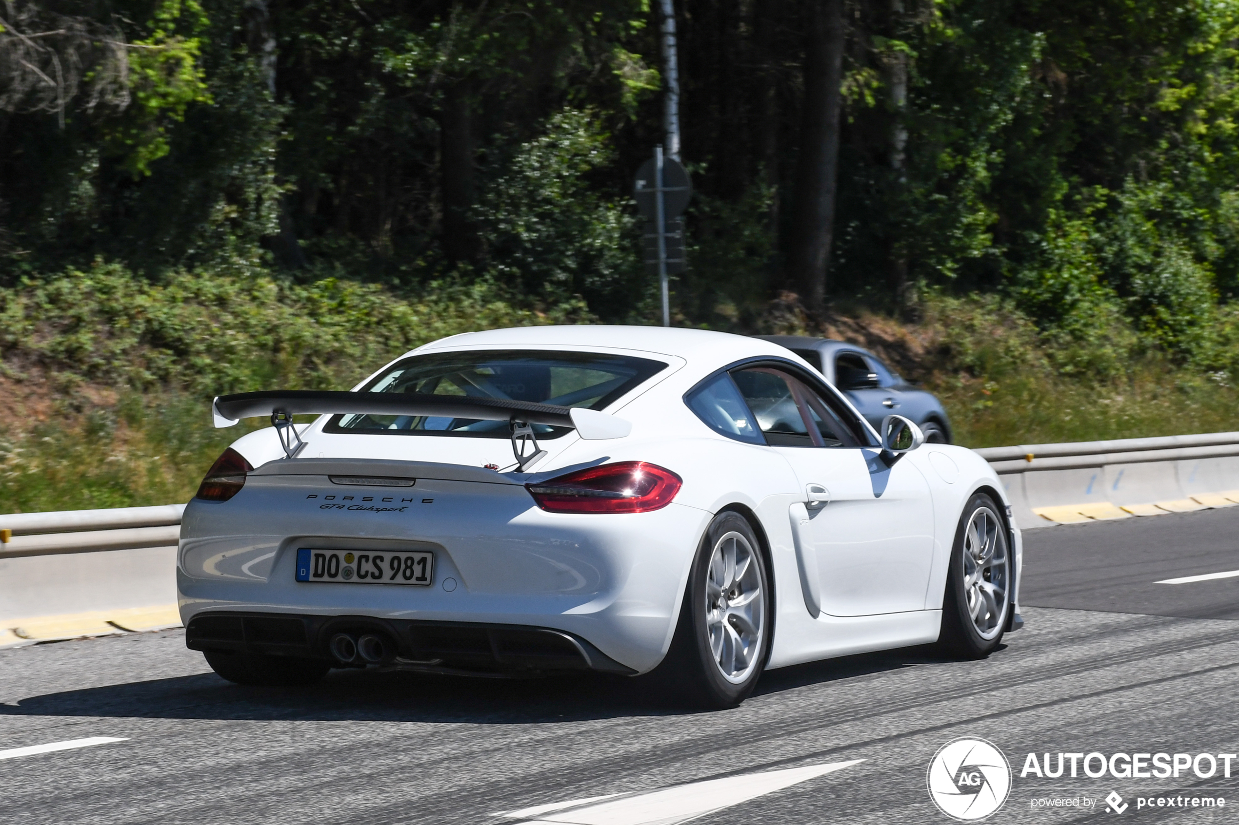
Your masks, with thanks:
M 689 323 L 752 327 L 788 284 L 812 5 L 679 4 L 701 193 L 676 284 Z M 603 319 L 648 313 L 624 198 L 659 139 L 643 0 L 9 9 L 10 283 L 100 255 L 152 280 L 275 267 L 410 288 L 456 271 L 580 294 Z M 1213 313 L 1239 291 L 1239 4 L 845 10 L 833 299 L 907 312 L 927 287 L 997 292 L 1067 339 L 1118 319 L 1136 346 L 1217 361 Z M 17 32 L 69 22 L 76 38 L 14 52 Z M 100 47 L 118 38 L 119 58 Z M 58 98 L 15 62 L 57 56 L 79 67 Z

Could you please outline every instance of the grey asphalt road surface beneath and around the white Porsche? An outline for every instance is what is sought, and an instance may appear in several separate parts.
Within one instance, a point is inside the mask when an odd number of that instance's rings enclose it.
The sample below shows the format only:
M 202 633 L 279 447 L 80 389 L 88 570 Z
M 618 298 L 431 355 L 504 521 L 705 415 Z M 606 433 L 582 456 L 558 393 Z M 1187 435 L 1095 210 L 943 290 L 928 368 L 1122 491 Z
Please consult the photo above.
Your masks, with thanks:
M 1239 569 L 1239 508 L 1046 528 L 1026 545 L 1028 623 L 989 659 L 904 649 L 774 670 L 724 712 L 664 707 L 623 680 L 351 672 L 302 690 L 238 688 L 180 632 L 2 651 L 0 823 L 498 825 L 518 821 L 501 811 L 719 778 L 696 803 L 655 798 L 644 820 L 631 804 L 564 816 L 669 824 L 696 804 L 720 808 L 694 820 L 707 825 L 948 823 L 926 772 L 961 736 L 1011 762 L 987 821 L 1113 818 L 1111 790 L 1123 821 L 1239 821 L 1239 762 L 1230 779 L 1020 776 L 1030 752 L 1239 751 L 1239 578 L 1152 584 Z M 124 741 L 2 758 L 85 737 Z M 750 774 L 854 759 L 742 799 L 774 776 Z M 1230 805 L 1137 808 L 1150 795 Z

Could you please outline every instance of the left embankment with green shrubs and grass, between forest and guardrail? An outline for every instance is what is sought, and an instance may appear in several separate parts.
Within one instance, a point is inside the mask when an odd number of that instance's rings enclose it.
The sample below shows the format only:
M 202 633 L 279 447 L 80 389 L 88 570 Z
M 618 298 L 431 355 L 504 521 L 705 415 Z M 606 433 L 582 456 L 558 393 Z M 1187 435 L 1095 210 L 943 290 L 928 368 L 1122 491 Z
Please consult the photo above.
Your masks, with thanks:
M 339 278 L 112 265 L 0 289 L 0 512 L 185 501 L 224 445 L 207 401 L 348 388 L 426 341 L 589 320 L 582 303 L 518 303 L 488 280 L 416 294 Z M 244 425 L 244 424 L 243 424 Z

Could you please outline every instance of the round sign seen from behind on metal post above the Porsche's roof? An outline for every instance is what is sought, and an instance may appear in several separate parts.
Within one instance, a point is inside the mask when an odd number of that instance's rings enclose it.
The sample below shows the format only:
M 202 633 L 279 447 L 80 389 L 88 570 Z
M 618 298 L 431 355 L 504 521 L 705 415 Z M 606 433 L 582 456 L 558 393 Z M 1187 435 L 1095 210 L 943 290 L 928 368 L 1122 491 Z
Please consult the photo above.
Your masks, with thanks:
M 673 157 L 663 156 L 663 147 L 654 147 L 654 157 L 637 169 L 633 198 L 646 219 L 642 236 L 646 270 L 658 273 L 663 293 L 663 327 L 672 325 L 667 276 L 684 271 L 684 220 L 680 215 L 693 197 L 689 173 Z

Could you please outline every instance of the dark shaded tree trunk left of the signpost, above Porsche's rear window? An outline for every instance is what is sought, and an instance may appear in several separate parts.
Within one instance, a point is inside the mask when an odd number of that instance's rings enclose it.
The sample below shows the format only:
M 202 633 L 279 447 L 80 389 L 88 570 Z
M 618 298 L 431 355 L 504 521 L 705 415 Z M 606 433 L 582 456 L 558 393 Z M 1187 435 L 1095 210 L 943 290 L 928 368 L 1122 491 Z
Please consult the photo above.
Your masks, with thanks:
M 477 260 L 478 252 L 477 230 L 468 216 L 476 189 L 473 116 L 470 98 L 466 80 L 457 80 L 447 87 L 444 95 L 444 118 L 439 130 L 444 254 L 453 263 L 471 263 Z

